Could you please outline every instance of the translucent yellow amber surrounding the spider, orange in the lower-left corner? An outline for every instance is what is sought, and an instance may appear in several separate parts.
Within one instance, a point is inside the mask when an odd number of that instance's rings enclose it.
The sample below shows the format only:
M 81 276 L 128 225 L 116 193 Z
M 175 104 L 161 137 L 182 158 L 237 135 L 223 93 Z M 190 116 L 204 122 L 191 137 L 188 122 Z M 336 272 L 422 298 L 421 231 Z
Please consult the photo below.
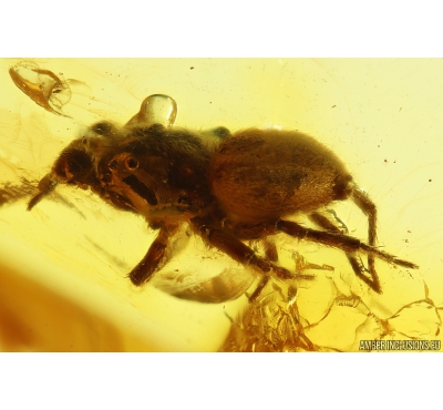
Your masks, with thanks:
M 41 178 L 82 126 L 100 119 L 124 123 L 155 93 L 177 101 L 176 126 L 302 131 L 338 153 L 377 203 L 379 244 L 420 265 L 394 269 L 378 262 L 383 295 L 373 296 L 341 252 L 293 240 L 309 262 L 334 267 L 333 289 L 322 271 L 300 289 L 300 315 L 318 322 L 308 337 L 337 350 L 358 350 L 359 339 L 374 335 L 441 338 L 442 60 L 30 60 L 70 83 L 63 112 L 71 117 L 45 111 L 12 83 L 8 70 L 20 61 L 0 60 L 1 185 L 23 175 Z M 220 349 L 227 315 L 235 318 L 247 306 L 245 297 L 209 305 L 179 300 L 150 284 L 133 287 L 125 275 L 153 238 L 144 221 L 80 189 L 60 194 L 70 202 L 42 201 L 30 213 L 29 197 L 0 207 L 2 351 Z M 350 234 L 365 240 L 365 216 L 352 204 L 334 209 Z M 215 252 L 207 255 L 219 269 L 239 268 Z M 192 259 L 181 255 L 172 263 L 186 273 Z M 361 297 L 370 314 L 336 304 L 324 317 L 324 306 L 339 295 Z M 383 331 L 375 329 L 380 320 L 389 321 Z

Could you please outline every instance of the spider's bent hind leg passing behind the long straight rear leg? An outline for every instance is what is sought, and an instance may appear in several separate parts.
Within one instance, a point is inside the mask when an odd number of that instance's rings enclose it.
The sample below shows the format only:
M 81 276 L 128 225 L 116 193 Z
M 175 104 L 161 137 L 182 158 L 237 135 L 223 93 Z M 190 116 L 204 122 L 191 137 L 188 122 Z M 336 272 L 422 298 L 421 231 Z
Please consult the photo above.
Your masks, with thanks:
M 329 213 L 333 217 L 333 222 L 327 216 L 320 214 L 319 212 L 311 213 L 309 215 L 309 218 L 321 228 L 341 234 L 343 233 L 347 234 L 348 227 L 344 225 L 344 223 L 337 216 L 337 214 L 333 211 Z M 340 228 L 336 224 L 338 224 Z M 380 279 L 379 276 L 377 275 L 374 264 L 369 264 L 370 257 L 373 259 L 373 256 L 368 255 L 369 269 L 367 269 L 361 263 L 360 257 L 358 257 L 356 253 L 346 252 L 346 255 L 356 276 L 361 280 L 363 280 L 372 290 L 377 291 L 378 294 L 381 294 Z M 369 274 L 371 278 L 369 278 L 367 274 Z

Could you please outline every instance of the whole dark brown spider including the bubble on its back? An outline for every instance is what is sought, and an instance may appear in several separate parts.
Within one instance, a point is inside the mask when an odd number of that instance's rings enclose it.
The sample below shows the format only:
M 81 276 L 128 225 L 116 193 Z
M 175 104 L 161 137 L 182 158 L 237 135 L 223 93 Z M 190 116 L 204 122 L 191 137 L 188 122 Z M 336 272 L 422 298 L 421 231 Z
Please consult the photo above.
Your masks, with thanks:
M 155 113 L 158 106 L 167 107 L 163 121 Z M 262 257 L 245 244 L 280 233 L 341 249 L 357 277 L 375 293 L 382 291 L 375 258 L 418 268 L 377 247 L 375 204 L 342 161 L 316 139 L 275 129 L 193 133 L 173 127 L 176 112 L 172 98 L 155 94 L 124 126 L 92 125 L 60 153 L 28 209 L 58 184 L 69 184 L 91 189 L 117 209 L 142 215 L 157 235 L 130 273 L 136 286 L 171 259 L 171 238 L 183 223 L 208 245 L 262 276 L 251 300 L 271 276 L 297 276 L 277 264 L 275 245 L 267 245 Z M 333 213 L 332 218 L 324 216 L 324 207 L 346 199 L 368 217 L 368 243 L 349 236 Z M 300 214 L 317 228 L 287 219 Z M 367 256 L 368 267 L 360 255 Z

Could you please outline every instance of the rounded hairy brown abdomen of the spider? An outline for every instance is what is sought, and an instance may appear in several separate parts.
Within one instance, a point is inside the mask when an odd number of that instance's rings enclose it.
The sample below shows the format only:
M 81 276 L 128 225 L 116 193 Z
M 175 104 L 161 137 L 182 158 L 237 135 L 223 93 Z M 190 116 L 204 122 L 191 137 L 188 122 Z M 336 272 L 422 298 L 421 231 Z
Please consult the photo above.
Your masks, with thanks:
M 315 139 L 278 130 L 245 130 L 225 140 L 210 163 L 213 193 L 238 222 L 309 212 L 351 191 L 341 161 Z

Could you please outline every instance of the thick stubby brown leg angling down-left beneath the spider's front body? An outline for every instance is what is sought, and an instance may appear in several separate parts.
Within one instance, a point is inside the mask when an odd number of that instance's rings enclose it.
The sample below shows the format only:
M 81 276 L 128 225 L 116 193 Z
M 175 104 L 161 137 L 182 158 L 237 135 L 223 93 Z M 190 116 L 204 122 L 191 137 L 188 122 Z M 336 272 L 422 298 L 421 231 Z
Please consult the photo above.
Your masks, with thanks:
M 167 245 L 171 236 L 177 230 L 178 225 L 164 224 L 161 226 L 157 237 L 151 244 L 146 255 L 130 273 L 131 281 L 141 286 L 148 281 L 158 271 L 167 258 Z

